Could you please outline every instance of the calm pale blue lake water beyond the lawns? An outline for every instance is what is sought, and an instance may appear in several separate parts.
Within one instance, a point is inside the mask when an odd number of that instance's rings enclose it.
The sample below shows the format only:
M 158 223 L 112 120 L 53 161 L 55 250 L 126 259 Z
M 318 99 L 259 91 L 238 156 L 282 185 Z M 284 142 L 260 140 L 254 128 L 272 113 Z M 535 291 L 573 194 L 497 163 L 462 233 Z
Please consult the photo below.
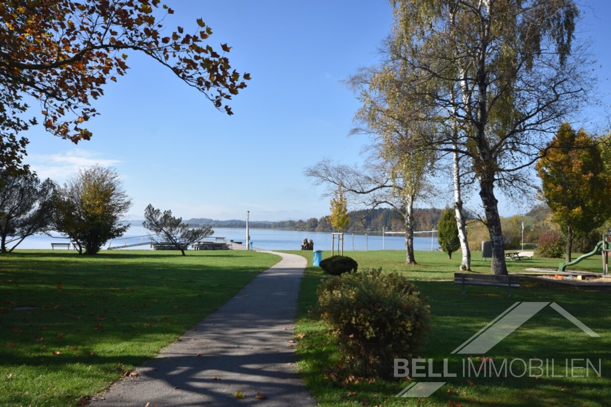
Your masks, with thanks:
M 135 239 L 136 236 L 145 236 L 148 234 L 147 229 L 142 226 L 133 225 L 121 238 L 115 239 L 112 242 L 112 246 L 122 245 L 123 242 L 135 243 L 139 239 Z M 243 228 L 214 228 L 213 237 L 225 237 L 227 242 L 229 240 L 241 241 L 246 244 L 246 229 Z M 415 237 L 414 238 L 414 249 L 415 250 L 431 250 L 431 243 L 433 250 L 437 250 L 439 244 L 437 243 L 437 237 L 433 238 L 431 242 L 430 234 L 428 237 Z M 125 240 L 127 239 L 127 240 Z M 278 229 L 251 229 L 251 241 L 255 248 L 270 249 L 270 250 L 299 250 L 301 248 L 301 242 L 304 239 L 312 239 L 314 241 L 314 248 L 320 250 L 331 250 L 331 233 L 329 232 L 304 232 L 304 231 L 285 231 Z M 365 236 L 362 234 L 349 234 L 344 235 L 344 251 L 351 250 L 382 250 L 382 236 L 369 235 Z M 386 250 L 405 250 L 405 239 L 403 235 L 385 236 L 384 237 L 384 249 Z M 51 243 L 62 243 L 68 242 L 68 239 L 57 239 L 48 236 L 30 236 L 27 237 L 17 248 L 18 249 L 50 249 Z M 108 242 L 104 248 L 108 247 Z M 337 248 L 337 242 L 335 243 Z M 149 245 L 132 247 L 131 249 L 147 250 L 150 249 Z

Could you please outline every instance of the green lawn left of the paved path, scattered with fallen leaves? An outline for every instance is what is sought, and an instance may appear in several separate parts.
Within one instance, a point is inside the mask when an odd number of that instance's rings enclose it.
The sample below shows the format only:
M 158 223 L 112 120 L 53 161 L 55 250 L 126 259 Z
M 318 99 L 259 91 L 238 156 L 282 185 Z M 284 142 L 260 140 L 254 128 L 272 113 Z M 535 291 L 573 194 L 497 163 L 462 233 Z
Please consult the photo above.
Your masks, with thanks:
M 75 405 L 278 260 L 254 251 L 0 255 L 0 405 Z

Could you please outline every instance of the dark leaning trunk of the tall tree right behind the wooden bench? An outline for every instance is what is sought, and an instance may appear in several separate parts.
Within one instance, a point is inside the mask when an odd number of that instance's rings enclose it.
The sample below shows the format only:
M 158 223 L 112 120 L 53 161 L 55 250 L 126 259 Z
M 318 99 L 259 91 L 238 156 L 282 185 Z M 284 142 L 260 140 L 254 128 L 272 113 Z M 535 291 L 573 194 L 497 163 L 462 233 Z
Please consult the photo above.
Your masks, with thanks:
M 486 226 L 488 226 L 492 244 L 492 272 L 496 275 L 507 275 L 505 245 L 503 244 L 503 232 L 500 226 L 499 201 L 494 196 L 494 178 L 492 176 L 482 176 L 480 178 L 480 198 L 484 206 Z

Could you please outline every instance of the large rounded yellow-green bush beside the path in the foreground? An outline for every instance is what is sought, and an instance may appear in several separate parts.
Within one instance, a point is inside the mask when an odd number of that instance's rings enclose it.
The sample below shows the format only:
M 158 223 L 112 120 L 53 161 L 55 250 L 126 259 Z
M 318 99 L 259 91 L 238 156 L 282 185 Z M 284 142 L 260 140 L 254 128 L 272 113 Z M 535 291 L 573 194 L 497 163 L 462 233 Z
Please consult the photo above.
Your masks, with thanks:
M 321 284 L 317 294 L 354 375 L 392 377 L 393 359 L 414 355 L 430 330 L 426 300 L 397 273 L 343 274 Z

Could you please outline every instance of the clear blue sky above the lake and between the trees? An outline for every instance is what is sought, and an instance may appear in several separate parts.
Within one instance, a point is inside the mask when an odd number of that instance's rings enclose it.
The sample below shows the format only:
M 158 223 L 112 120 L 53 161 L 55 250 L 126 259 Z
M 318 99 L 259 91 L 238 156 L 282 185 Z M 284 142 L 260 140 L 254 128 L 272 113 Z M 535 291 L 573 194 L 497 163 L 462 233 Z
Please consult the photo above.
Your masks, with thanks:
M 233 68 L 252 74 L 231 103 L 235 115 L 218 112 L 167 68 L 132 53 L 128 74 L 95 103 L 101 115 L 89 122 L 92 140 L 75 146 L 38 126 L 27 134 L 26 162 L 60 183 L 79 167 L 114 165 L 136 217 L 149 203 L 183 218 L 245 218 L 247 210 L 252 220 L 328 214 L 323 189 L 312 186 L 304 168 L 322 156 L 359 162 L 367 137 L 347 136 L 358 104 L 340 81 L 378 59 L 376 49 L 392 21 L 389 3 L 166 3 L 175 10 L 166 18 L 169 29 L 195 29 L 202 17 L 214 31 L 211 45 L 229 43 Z M 610 106 L 611 7 L 598 0 L 582 10 L 579 35 L 593 40 L 599 92 Z M 442 196 L 437 206 L 450 199 Z M 500 211 L 510 215 L 523 208 L 502 203 Z

